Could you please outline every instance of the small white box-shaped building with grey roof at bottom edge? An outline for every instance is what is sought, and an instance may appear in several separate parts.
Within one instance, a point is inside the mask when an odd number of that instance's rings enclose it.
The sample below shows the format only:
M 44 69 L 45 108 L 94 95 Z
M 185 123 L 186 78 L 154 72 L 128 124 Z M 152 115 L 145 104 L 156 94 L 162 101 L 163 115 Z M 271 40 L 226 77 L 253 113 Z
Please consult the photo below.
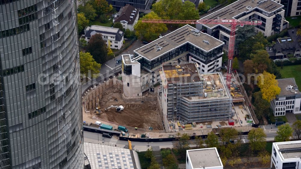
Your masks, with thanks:
M 223 169 L 216 147 L 186 150 L 186 169 Z

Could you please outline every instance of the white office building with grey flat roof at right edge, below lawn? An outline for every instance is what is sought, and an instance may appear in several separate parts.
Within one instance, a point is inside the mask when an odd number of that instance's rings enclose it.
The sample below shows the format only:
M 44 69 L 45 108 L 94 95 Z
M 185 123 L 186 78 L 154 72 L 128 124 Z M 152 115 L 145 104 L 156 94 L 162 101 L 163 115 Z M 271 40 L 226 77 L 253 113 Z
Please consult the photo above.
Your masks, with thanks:
M 286 113 L 301 113 L 301 93 L 295 78 L 277 79 L 281 92 L 271 101 L 271 108 L 275 116 Z

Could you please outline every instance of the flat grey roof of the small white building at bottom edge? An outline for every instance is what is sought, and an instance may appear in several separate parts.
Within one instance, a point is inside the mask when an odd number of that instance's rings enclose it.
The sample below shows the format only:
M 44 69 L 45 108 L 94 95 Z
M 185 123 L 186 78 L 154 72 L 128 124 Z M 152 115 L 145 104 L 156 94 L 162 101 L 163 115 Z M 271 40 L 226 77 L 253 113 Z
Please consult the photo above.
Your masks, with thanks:
M 223 166 L 216 148 L 188 150 L 187 153 L 193 168 Z

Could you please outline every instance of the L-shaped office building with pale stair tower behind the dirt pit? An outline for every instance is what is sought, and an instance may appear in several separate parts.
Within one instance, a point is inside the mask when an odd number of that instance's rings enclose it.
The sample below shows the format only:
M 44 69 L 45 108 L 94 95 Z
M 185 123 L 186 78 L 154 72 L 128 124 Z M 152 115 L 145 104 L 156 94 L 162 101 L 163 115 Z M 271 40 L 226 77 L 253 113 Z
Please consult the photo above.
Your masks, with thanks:
M 136 49 L 133 57 L 123 55 L 125 95 L 135 97 L 142 96 L 143 91 L 154 91 L 153 86 L 160 84 L 159 69 L 164 62 L 194 62 L 199 65 L 198 69 L 202 73 L 220 69 L 223 44 L 222 41 L 185 25 Z

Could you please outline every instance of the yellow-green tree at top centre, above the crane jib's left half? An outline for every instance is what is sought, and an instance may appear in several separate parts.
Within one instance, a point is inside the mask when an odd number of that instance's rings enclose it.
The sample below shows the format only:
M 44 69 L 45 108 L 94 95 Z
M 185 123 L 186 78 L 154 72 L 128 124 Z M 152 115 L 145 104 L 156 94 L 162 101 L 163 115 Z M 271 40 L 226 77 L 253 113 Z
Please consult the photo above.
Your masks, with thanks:
M 181 0 L 160 0 L 153 4 L 152 11 L 162 19 L 178 19 L 182 5 Z

